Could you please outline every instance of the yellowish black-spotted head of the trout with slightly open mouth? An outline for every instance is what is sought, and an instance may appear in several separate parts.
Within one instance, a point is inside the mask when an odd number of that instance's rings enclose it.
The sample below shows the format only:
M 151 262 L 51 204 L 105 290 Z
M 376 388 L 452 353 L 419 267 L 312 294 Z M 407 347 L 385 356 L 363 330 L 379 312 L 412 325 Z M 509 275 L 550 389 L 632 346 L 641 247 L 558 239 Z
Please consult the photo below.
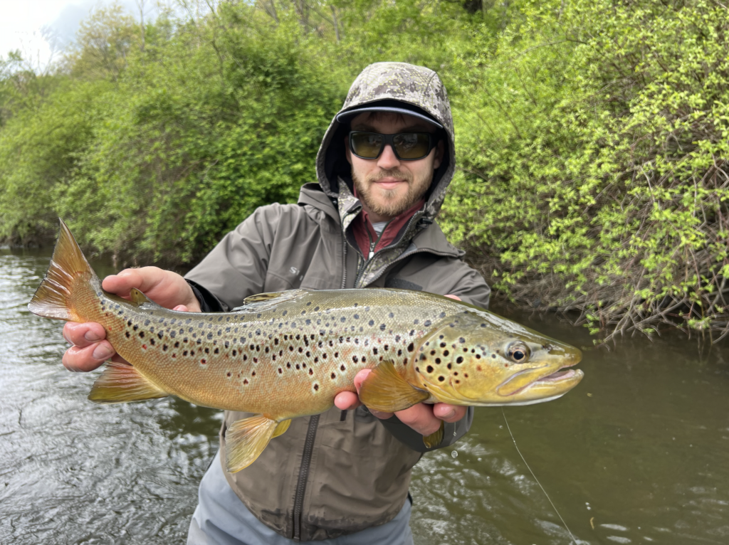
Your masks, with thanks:
M 483 310 L 446 318 L 414 358 L 416 386 L 458 405 L 526 405 L 563 396 L 582 380 L 582 353 Z

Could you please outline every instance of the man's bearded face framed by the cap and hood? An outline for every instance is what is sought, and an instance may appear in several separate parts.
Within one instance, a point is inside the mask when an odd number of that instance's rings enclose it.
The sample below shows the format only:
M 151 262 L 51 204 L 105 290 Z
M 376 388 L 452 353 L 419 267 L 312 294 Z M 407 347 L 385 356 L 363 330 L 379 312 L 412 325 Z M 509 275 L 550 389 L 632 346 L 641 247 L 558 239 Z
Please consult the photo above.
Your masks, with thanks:
M 351 130 L 380 134 L 435 132 L 433 125 L 417 117 L 389 112 L 359 114 L 352 119 Z M 389 145 L 377 159 L 352 154 L 348 137 L 345 147 L 357 195 L 375 222 L 388 221 L 414 205 L 430 187 L 434 170 L 443 160 L 443 141 L 416 161 L 399 160 Z

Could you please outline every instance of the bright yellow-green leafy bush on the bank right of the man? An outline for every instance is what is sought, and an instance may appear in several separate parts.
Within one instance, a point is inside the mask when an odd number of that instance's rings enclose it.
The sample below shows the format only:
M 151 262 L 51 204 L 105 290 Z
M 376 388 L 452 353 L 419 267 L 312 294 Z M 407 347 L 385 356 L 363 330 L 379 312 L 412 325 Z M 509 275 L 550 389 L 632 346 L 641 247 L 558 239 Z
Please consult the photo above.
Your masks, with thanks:
M 728 31 L 708 0 L 523 7 L 456 108 L 448 227 L 499 289 L 593 331 L 729 331 Z

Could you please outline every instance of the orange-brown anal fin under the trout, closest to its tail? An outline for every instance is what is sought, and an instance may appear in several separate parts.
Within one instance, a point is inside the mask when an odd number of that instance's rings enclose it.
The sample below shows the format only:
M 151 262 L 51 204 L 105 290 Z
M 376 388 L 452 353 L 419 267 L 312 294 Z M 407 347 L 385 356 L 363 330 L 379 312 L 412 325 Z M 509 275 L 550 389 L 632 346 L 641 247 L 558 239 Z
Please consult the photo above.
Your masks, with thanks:
M 170 394 L 150 383 L 133 366 L 108 361 L 104 372 L 93 383 L 88 399 L 95 403 L 127 403 L 168 395 Z

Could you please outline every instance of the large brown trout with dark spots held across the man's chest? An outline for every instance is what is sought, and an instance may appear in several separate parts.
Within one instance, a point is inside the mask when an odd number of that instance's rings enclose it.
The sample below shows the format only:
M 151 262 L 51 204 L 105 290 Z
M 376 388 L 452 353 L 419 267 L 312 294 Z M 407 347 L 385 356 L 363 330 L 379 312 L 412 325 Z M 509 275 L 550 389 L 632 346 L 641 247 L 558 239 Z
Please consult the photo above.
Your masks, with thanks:
M 424 401 L 524 405 L 574 388 L 580 350 L 440 295 L 398 289 L 295 289 L 246 299 L 230 313 L 168 310 L 132 290 L 106 293 L 66 224 L 28 309 L 46 318 L 95 321 L 129 364 L 107 362 L 97 403 L 178 396 L 252 412 L 227 428 L 228 471 L 256 460 L 290 419 L 316 415 L 354 375 L 373 371 L 359 397 L 394 412 Z M 424 437 L 440 443 L 443 426 Z

